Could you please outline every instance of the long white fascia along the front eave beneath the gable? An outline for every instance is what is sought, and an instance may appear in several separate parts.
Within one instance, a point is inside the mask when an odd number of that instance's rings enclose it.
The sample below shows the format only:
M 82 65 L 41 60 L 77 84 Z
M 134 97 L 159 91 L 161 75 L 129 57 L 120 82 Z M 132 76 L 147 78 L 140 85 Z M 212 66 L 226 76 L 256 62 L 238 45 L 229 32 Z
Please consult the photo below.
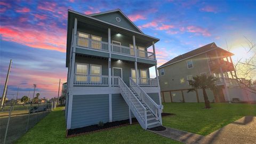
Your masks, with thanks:
M 89 15 L 85 15 L 83 13 L 79 13 L 79 12 L 76 12 L 76 11 L 73 11 L 73 10 L 68 10 L 69 12 L 72 12 L 74 14 L 78 14 L 78 15 L 81 15 L 83 17 L 86 17 L 86 18 L 89 18 L 89 19 L 93 19 L 93 20 L 96 20 L 96 21 L 99 21 L 99 22 L 102 22 L 102 23 L 106 23 L 110 26 L 114 26 L 114 27 L 117 27 L 117 28 L 121 28 L 121 29 L 124 29 L 124 30 L 127 30 L 127 31 L 131 31 L 132 33 L 135 33 L 135 34 L 139 34 L 139 35 L 142 35 L 142 36 L 146 36 L 146 37 L 149 37 L 149 38 L 153 38 L 155 39 L 156 41 L 159 41 L 160 39 L 159 38 L 155 38 L 155 37 L 152 37 L 152 36 L 149 36 L 149 35 L 145 35 L 143 33 L 139 33 L 137 31 L 133 31 L 133 30 L 130 30 L 130 29 L 127 29 L 127 28 L 123 28 L 123 27 L 120 27 L 120 26 L 117 26 L 117 25 L 114 25 L 112 23 L 109 23 L 109 22 L 106 22 L 106 21 L 103 21 L 103 20 L 99 20 L 99 19 L 96 19 L 96 18 L 93 18 L 93 17 L 90 17 Z

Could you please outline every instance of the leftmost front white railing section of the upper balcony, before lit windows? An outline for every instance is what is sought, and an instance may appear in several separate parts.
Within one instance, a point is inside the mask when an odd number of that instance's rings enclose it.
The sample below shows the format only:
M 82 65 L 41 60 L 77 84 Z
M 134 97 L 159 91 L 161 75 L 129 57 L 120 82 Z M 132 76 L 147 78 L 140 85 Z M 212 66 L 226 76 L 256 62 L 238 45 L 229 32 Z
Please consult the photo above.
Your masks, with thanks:
M 90 38 L 77 37 L 77 45 L 81 47 L 87 47 L 89 49 L 108 51 L 108 43 L 102 41 L 95 41 Z

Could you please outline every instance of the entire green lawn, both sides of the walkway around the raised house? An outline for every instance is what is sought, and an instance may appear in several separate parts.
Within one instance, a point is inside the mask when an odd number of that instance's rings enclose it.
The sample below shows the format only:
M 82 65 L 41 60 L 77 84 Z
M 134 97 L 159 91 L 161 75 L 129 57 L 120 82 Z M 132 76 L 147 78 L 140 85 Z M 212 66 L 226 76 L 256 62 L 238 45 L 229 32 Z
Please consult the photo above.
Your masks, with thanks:
M 174 116 L 163 117 L 163 125 L 197 134 L 207 135 L 245 115 L 256 116 L 256 105 L 211 103 L 164 103 L 164 112 Z M 139 124 L 65 138 L 64 111 L 52 111 L 17 143 L 179 143 L 142 130 Z

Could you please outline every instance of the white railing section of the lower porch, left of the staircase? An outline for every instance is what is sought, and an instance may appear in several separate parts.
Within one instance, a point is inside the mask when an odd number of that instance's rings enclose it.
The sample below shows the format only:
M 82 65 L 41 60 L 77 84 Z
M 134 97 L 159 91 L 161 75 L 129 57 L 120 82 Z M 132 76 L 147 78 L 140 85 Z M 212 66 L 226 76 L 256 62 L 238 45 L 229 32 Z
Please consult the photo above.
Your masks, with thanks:
M 108 86 L 108 76 L 75 74 L 74 85 Z

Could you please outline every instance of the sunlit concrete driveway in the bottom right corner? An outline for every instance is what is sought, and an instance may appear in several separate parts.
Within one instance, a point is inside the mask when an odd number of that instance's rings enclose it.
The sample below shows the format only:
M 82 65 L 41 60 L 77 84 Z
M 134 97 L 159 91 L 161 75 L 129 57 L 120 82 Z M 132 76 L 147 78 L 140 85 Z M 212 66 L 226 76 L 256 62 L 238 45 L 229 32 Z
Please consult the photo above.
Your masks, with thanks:
M 245 116 L 195 143 L 256 143 L 256 116 Z

